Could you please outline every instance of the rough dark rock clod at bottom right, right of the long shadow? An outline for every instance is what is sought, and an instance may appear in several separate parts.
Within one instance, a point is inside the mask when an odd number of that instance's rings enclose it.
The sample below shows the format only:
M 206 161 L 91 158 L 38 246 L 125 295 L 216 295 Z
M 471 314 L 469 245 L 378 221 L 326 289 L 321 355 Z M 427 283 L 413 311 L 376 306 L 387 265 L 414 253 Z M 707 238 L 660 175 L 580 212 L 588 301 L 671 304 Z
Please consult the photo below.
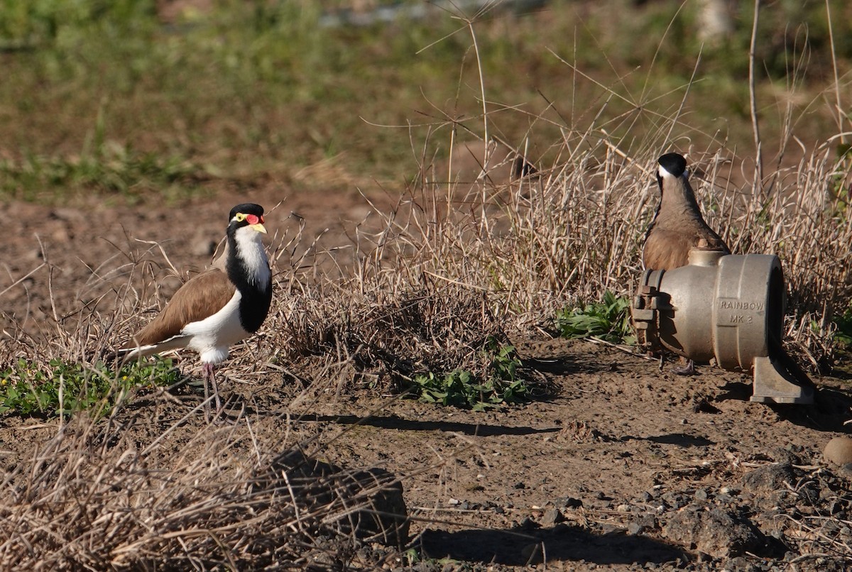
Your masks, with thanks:
M 676 512 L 663 527 L 671 541 L 705 552 L 714 558 L 733 558 L 761 552 L 764 536 L 747 518 L 719 508 L 691 505 Z

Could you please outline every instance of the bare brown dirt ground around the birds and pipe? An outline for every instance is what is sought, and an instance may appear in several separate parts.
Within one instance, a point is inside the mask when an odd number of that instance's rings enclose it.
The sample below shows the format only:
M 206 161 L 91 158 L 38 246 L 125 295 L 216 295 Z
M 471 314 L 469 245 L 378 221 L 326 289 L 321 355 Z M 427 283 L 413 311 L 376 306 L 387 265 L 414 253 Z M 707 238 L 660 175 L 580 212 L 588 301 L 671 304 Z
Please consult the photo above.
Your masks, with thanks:
M 0 291 L 11 288 L 0 299 L 3 327 L 39 329 L 54 312 L 79 311 L 79 300 L 108 306 L 104 292 L 89 292 L 93 269 L 135 238 L 168 240 L 178 268 L 204 266 L 233 204 L 270 208 L 284 198 L 223 192 L 173 208 L 4 203 Z M 289 193 L 268 217 L 270 230 L 296 225 L 291 211 L 307 221 L 308 234 L 330 228 L 333 239 L 366 207 L 354 195 L 319 201 Z M 45 255 L 52 273 L 39 269 Z M 431 558 L 415 569 L 852 565 L 852 472 L 821 456 L 829 439 L 849 432 L 849 379 L 820 380 L 813 406 L 767 406 L 749 403 L 745 375 L 705 366 L 679 377 L 669 365 L 660 372 L 655 361 L 588 341 L 512 341 L 530 379 L 551 391 L 503 411 L 440 408 L 369 388 L 306 391 L 281 374 L 222 386 L 231 408 L 245 405 L 258 435 L 319 435 L 334 463 L 402 476 L 412 546 Z M 198 401 L 140 399 L 127 415 L 144 420 L 133 429 L 144 443 Z M 175 446 L 201 426 L 203 415 L 191 417 Z M 0 418 L 3 465 L 53 434 L 50 421 Z M 401 566 L 387 555 L 384 567 Z

